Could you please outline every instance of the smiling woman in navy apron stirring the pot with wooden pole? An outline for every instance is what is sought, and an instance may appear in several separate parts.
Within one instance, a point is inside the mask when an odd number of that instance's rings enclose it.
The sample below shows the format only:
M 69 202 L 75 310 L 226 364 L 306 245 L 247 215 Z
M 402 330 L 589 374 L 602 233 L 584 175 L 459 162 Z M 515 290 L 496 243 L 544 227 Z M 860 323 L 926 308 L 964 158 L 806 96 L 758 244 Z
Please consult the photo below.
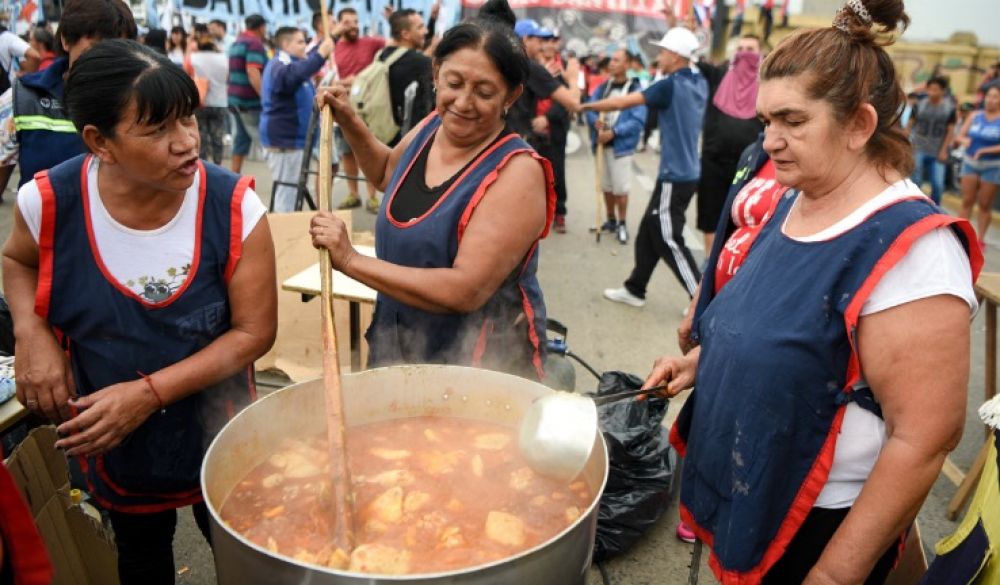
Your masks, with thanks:
M 386 197 L 378 258 L 359 255 L 331 214 L 317 214 L 310 233 L 335 269 L 379 291 L 369 365 L 471 364 L 538 379 L 545 304 L 535 272 L 552 173 L 504 123 L 528 72 L 514 15 L 494 0 L 480 17 L 441 39 L 436 109 L 393 149 L 353 112 L 346 88 L 319 96 Z

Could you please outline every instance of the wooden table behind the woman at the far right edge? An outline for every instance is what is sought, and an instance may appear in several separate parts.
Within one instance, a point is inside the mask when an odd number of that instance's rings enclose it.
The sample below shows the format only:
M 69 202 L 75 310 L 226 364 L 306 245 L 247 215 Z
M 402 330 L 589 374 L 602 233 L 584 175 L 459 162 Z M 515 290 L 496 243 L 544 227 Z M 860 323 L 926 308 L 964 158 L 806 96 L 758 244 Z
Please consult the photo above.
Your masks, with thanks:
M 984 373 L 986 376 L 983 385 L 983 401 L 987 401 L 997 393 L 997 305 L 1000 305 L 1000 273 L 983 272 L 976 282 L 976 297 L 986 311 L 986 353 L 983 356 Z M 965 502 L 972 495 L 979 476 L 983 473 L 983 466 L 986 464 L 986 454 L 989 452 L 990 429 L 986 429 L 986 442 L 979 450 L 976 460 L 968 473 L 962 473 L 958 467 L 945 459 L 943 473 L 952 482 L 958 485 L 958 490 L 948 502 L 948 518 L 954 520 L 958 513 L 965 506 Z

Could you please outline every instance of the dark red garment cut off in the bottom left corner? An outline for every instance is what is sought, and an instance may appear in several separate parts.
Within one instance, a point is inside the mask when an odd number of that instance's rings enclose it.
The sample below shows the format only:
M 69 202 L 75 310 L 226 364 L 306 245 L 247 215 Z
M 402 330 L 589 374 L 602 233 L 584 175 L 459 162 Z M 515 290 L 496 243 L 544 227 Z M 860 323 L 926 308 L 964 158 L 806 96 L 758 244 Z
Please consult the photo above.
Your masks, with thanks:
M 3 564 L 13 569 L 14 585 L 49 585 L 54 570 L 45 542 L 14 478 L 0 466 L 0 546 L 6 547 Z

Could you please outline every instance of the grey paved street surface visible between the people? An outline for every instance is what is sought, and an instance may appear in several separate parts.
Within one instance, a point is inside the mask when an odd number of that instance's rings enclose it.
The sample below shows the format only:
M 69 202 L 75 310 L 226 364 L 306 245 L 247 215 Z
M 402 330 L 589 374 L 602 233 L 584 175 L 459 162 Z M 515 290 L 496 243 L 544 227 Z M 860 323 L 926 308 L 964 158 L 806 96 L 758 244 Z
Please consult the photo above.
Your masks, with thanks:
M 650 151 L 637 156 L 641 170 L 633 184 L 629 209 L 629 228 L 634 232 L 642 214 L 655 175 L 657 154 Z M 250 163 L 244 169 L 255 173 L 257 185 L 266 197 L 271 180 L 266 165 Z M 662 353 L 676 352 L 675 330 L 687 305 L 687 295 L 667 267 L 660 266 L 650 284 L 646 306 L 636 309 L 614 304 L 601 297 L 607 287 L 617 287 L 628 275 L 632 265 L 632 248 L 621 246 L 605 237 L 595 242 L 588 228 L 594 222 L 594 170 L 586 148 L 567 159 L 569 177 L 569 215 L 567 234 L 552 234 L 542 245 L 541 283 L 551 317 L 565 323 L 570 330 L 569 345 L 598 370 L 625 370 L 645 375 L 653 360 Z M 14 181 L 12 180 L 12 183 Z M 335 187 L 335 199 L 345 192 L 343 182 Z M 13 193 L 8 190 L 0 205 L 0 236 L 6 238 L 10 229 Z M 689 222 L 693 223 L 694 206 Z M 373 216 L 364 210 L 355 211 L 355 230 L 370 230 Z M 995 234 L 1000 234 L 994 228 Z M 307 237 L 303 234 L 303 237 Z M 1000 236 L 998 236 L 1000 237 Z M 690 231 L 688 241 L 698 248 L 701 256 L 701 235 Z M 1000 240 L 990 239 L 987 270 L 1000 270 Z M 292 294 L 292 293 L 280 293 Z M 969 409 L 965 437 L 953 454 L 954 462 L 967 469 L 983 438 L 975 409 L 983 395 L 983 330 L 984 318 L 974 320 L 972 336 L 973 371 L 969 385 Z M 577 368 L 578 389 L 590 389 L 593 378 Z M 683 399 L 683 397 L 681 397 Z M 674 401 L 676 412 L 680 399 Z M 954 487 L 940 478 L 920 514 L 925 548 L 932 553 L 933 543 L 956 526 L 944 517 L 948 499 Z M 676 508 L 672 507 L 649 536 L 627 555 L 608 563 L 610 582 L 616 585 L 681 584 L 687 582 L 690 545 L 680 543 L 673 535 Z M 177 567 L 184 572 L 179 583 L 207 585 L 215 582 L 210 551 L 202 541 L 188 513 L 182 515 L 177 535 Z M 600 574 L 592 570 L 588 584 L 601 583 Z M 710 571 L 703 567 L 699 583 L 713 583 Z

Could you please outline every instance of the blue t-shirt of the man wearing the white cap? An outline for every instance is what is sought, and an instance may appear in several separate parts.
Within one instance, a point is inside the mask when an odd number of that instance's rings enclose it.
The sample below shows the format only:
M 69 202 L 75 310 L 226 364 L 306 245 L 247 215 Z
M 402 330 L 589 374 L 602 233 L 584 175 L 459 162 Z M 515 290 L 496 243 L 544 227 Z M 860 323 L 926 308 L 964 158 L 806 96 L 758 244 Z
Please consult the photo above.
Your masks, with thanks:
M 671 183 L 701 177 L 698 135 L 705 118 L 708 82 L 697 69 L 685 67 L 642 92 L 646 105 L 659 111 L 660 173 Z

